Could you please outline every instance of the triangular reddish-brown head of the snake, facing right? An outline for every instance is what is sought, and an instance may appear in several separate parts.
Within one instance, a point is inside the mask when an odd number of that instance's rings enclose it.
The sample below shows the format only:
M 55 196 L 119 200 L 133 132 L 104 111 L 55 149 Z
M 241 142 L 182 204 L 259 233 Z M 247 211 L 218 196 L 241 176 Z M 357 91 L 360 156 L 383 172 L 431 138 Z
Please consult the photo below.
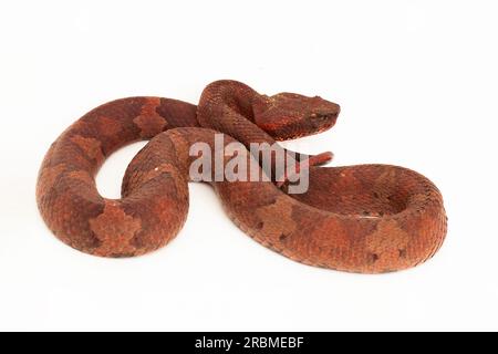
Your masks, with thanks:
M 340 106 L 322 97 L 279 93 L 255 106 L 255 122 L 277 140 L 313 135 L 334 126 Z

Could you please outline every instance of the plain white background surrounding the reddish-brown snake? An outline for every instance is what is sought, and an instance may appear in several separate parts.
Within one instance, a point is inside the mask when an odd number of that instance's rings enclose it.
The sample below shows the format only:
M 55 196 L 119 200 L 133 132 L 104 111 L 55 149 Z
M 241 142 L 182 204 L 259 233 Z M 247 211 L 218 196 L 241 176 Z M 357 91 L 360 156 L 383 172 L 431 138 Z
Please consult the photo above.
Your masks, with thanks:
M 2 1 L 0 330 L 498 330 L 496 3 Z M 340 103 L 332 131 L 287 145 L 425 174 L 445 197 L 443 249 L 386 275 L 302 266 L 239 231 L 204 185 L 146 257 L 51 235 L 34 186 L 65 127 L 124 96 L 195 103 L 218 79 Z M 141 146 L 105 164 L 104 196 Z

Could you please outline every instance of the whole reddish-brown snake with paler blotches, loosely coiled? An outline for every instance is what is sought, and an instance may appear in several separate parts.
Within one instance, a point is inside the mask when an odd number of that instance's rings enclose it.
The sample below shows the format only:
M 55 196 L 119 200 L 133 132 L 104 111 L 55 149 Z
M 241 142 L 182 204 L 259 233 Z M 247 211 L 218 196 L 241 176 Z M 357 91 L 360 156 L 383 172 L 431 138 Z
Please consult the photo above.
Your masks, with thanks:
M 112 101 L 83 115 L 51 145 L 38 176 L 37 204 L 49 229 L 79 251 L 145 254 L 174 239 L 187 219 L 189 171 L 199 157 L 191 146 L 219 149 L 216 136 L 221 135 L 221 148 L 239 144 L 248 152 L 243 158 L 257 162 L 251 144 L 279 146 L 324 132 L 339 113 L 338 104 L 320 96 L 269 96 L 231 80 L 206 86 L 198 105 L 155 96 Z M 149 142 L 129 163 L 122 197 L 104 198 L 95 183 L 100 167 L 113 152 L 138 140 Z M 274 177 L 203 181 L 245 233 L 308 266 L 374 274 L 415 267 L 436 253 L 447 217 L 429 179 L 393 165 L 323 166 L 331 156 L 292 157 L 309 176 L 300 194 L 290 194 L 289 180 Z M 229 163 L 227 156 L 221 160 Z M 274 165 L 256 168 L 258 176 L 269 175 Z M 203 173 L 215 175 L 208 167 Z

